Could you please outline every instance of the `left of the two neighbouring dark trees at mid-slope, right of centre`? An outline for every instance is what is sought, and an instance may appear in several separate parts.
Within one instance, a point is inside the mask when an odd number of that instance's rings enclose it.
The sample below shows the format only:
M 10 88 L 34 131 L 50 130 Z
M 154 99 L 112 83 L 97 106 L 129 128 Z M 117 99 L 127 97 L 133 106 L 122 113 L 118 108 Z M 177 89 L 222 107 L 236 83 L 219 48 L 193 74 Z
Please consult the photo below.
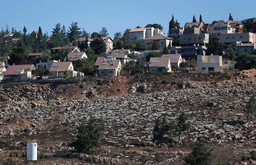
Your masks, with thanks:
M 155 121 L 155 127 L 153 130 L 153 146 L 154 143 L 160 144 L 160 147 L 162 143 L 164 142 L 164 135 L 167 134 L 167 132 L 170 130 L 170 125 L 166 121 L 166 116 L 163 115 L 160 118 L 157 118 Z

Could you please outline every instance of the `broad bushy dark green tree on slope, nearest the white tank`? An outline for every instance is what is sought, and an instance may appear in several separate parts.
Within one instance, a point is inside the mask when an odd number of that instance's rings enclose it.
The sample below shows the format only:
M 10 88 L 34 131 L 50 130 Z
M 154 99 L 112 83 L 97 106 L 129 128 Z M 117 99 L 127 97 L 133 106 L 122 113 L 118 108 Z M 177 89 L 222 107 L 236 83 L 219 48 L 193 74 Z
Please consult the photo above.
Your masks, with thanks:
M 97 124 L 96 119 L 90 118 L 88 125 L 81 124 L 78 128 L 77 139 L 70 144 L 80 153 L 91 153 L 94 147 L 100 147 L 103 125 Z

